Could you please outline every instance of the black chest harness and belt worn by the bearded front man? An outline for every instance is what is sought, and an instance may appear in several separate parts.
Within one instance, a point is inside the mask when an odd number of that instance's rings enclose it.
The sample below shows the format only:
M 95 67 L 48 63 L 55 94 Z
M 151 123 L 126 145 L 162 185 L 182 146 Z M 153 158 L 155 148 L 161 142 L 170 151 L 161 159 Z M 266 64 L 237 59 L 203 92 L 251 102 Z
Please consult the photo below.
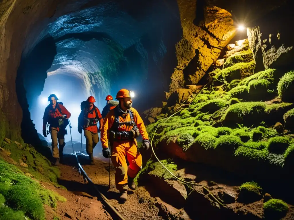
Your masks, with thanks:
M 134 114 L 131 109 L 128 110 L 128 114 L 131 117 L 131 121 L 119 122 L 119 108 L 114 109 L 114 123 L 109 132 L 109 139 L 111 141 L 123 141 L 123 140 L 133 140 L 140 135 L 139 128 L 134 121 Z M 122 125 L 133 126 L 131 131 L 119 131 Z

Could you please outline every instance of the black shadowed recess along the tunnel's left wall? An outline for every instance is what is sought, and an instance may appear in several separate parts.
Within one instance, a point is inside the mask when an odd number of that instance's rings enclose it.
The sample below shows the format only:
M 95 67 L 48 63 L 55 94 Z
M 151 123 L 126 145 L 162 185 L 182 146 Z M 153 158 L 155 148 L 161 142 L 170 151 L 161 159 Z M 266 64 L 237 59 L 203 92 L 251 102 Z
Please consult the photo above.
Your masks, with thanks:
M 28 103 L 41 94 L 47 78 L 46 71 L 51 67 L 56 54 L 53 37 L 42 40 L 27 57 L 21 59 L 16 77 L 16 94 L 23 112 L 21 137 L 25 143 L 34 145 L 47 158 L 51 157 L 50 150 L 42 148 L 41 140 L 31 120 Z

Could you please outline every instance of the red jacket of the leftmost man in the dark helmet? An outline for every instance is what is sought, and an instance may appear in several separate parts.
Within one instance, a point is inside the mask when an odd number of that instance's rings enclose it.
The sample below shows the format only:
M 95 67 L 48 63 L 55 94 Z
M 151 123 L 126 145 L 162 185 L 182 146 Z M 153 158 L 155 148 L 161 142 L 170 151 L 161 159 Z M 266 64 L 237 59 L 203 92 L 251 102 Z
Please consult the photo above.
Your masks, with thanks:
M 59 108 L 57 107 L 57 105 L 59 105 L 61 112 L 59 111 Z M 52 105 L 49 104 L 46 107 L 45 112 L 44 112 L 44 116 L 43 116 L 43 130 L 46 130 L 46 124 L 49 122 L 49 118 L 59 118 L 62 115 L 66 115 L 67 119 L 69 119 L 71 116 L 69 111 L 67 111 L 67 109 L 62 104 L 59 104 L 57 102 L 55 109 L 53 109 Z

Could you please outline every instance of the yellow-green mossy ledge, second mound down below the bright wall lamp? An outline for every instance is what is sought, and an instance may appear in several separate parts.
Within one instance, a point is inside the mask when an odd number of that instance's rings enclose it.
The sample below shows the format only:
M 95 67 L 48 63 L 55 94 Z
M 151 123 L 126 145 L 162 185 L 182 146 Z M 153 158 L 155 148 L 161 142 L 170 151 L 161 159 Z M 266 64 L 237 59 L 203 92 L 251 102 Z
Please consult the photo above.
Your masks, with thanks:
M 235 65 L 222 70 L 222 78 L 227 82 L 231 82 L 234 79 L 243 79 L 248 77 L 253 73 L 254 65 L 254 61 L 248 63 L 236 63 Z

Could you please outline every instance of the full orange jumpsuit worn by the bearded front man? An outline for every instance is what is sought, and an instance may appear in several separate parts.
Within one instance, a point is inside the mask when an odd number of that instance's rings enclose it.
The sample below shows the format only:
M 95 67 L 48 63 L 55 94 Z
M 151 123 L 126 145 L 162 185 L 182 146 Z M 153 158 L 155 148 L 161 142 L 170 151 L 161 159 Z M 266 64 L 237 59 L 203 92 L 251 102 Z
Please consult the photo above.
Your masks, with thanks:
M 119 108 L 119 106 L 117 106 Z M 119 116 L 119 122 L 128 122 L 131 121 L 130 114 L 123 113 L 123 110 L 119 108 L 122 114 Z M 111 129 L 114 121 L 115 109 L 112 109 L 108 112 L 106 115 L 103 126 L 101 129 L 101 143 L 102 148 L 108 148 L 108 134 L 109 130 Z M 136 109 L 131 108 L 131 111 L 133 112 L 134 121 L 143 137 L 143 140 L 149 139 L 148 134 L 145 128 L 145 125 L 143 123 L 143 120 L 141 119 L 140 115 L 138 114 L 138 111 Z M 130 131 L 133 128 L 133 126 L 128 125 L 122 125 L 118 128 L 118 131 Z M 131 178 L 136 177 L 138 172 L 142 168 L 142 155 L 137 149 L 137 140 L 124 140 L 124 141 L 113 141 L 111 143 L 111 161 L 113 165 L 116 167 L 116 173 L 115 173 L 115 182 L 116 182 L 116 188 L 122 192 L 128 190 L 128 176 Z M 126 163 L 126 156 L 129 162 L 129 166 Z

